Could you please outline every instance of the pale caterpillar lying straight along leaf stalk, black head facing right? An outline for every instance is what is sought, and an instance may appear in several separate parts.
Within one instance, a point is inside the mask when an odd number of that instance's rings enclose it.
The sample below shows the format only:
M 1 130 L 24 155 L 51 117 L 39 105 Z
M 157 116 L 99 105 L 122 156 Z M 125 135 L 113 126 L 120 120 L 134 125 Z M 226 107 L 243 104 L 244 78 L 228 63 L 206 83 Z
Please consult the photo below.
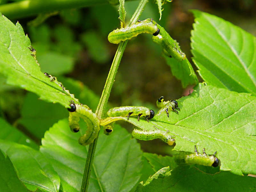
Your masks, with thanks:
M 155 116 L 155 112 L 153 110 L 137 106 L 114 107 L 109 109 L 107 114 L 109 117 L 127 116 L 127 120 L 129 120 L 130 116 L 138 115 L 138 121 L 140 120 L 140 116 L 145 116 L 147 121 Z

